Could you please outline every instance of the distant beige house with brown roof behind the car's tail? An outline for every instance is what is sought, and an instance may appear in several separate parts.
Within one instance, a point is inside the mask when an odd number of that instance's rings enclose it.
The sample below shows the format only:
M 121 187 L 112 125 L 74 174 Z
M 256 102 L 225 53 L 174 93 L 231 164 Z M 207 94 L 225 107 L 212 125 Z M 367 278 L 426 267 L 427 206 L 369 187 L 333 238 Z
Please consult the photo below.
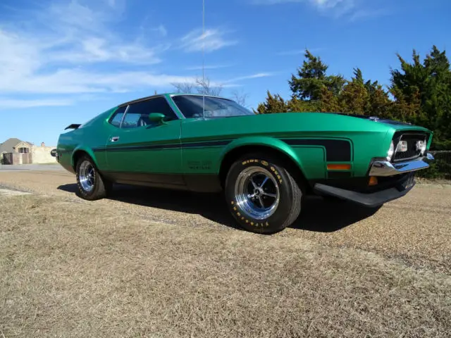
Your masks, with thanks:
M 21 139 L 7 139 L 0 144 L 0 161 L 3 164 L 53 163 L 56 158 L 51 156 L 51 146 L 35 146 L 32 142 Z

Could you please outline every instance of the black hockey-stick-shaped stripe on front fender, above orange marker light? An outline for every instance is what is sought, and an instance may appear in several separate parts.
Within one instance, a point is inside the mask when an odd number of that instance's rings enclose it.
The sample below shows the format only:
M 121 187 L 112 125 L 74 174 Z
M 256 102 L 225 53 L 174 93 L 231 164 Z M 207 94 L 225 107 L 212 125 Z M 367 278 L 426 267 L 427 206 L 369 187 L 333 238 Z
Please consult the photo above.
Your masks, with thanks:
M 290 146 L 323 146 L 326 148 L 326 161 L 352 161 L 351 144 L 344 139 L 281 139 Z

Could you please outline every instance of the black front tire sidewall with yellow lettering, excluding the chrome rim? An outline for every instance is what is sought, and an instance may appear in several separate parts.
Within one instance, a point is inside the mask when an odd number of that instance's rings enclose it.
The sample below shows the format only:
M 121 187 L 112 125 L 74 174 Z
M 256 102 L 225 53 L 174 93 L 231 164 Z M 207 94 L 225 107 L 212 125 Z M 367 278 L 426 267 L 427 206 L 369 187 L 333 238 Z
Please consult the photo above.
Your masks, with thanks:
M 266 156 L 246 156 L 233 163 L 227 175 L 225 195 L 230 212 L 242 227 L 252 232 L 271 233 L 282 230 L 285 221 L 290 215 L 292 205 L 292 186 L 285 169 L 278 164 L 278 161 L 275 161 L 272 158 L 263 157 Z M 252 218 L 250 215 L 247 215 L 247 213 L 245 213 L 245 211 L 243 211 L 237 204 L 237 199 L 235 196 L 235 182 L 242 170 L 249 167 L 266 169 L 269 173 L 271 173 L 278 185 L 280 194 L 279 204 L 276 211 L 264 220 Z

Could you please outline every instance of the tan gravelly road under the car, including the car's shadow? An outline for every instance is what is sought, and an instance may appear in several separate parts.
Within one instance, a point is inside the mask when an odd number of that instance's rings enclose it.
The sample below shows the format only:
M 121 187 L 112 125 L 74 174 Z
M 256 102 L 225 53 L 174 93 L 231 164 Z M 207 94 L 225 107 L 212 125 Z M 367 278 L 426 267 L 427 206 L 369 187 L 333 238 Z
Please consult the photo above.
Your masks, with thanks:
M 104 205 L 183 227 L 242 231 L 235 227 L 222 196 L 117 186 L 109 199 L 89 202 L 76 196 L 75 175 L 66 170 L 50 165 L 27 168 L 1 169 L 0 186 Z M 273 236 L 353 247 L 414 268 L 451 273 L 451 185 L 417 184 L 407 196 L 376 210 L 306 199 L 295 225 Z

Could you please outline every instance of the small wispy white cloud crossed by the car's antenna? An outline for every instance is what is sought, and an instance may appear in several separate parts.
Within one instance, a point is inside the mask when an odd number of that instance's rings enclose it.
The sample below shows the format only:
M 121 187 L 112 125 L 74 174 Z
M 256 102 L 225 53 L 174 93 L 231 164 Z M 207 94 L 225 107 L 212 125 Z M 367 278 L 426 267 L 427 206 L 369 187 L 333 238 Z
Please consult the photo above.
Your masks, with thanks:
M 204 46 L 205 51 L 209 52 L 237 44 L 236 40 L 228 40 L 224 35 L 226 32 L 218 29 L 205 30 L 204 34 L 202 30 L 192 30 L 181 39 L 181 46 L 185 51 L 202 51 Z

